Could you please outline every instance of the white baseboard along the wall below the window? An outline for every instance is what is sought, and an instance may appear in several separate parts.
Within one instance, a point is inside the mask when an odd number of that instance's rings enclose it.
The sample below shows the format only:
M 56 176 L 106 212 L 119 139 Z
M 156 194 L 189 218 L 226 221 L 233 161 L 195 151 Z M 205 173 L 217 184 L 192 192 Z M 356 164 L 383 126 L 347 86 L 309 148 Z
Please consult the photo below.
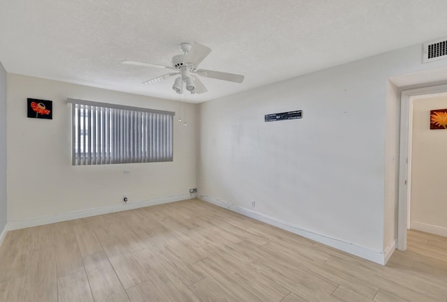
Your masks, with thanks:
M 127 211 L 132 209 L 143 208 L 145 206 L 154 206 L 156 204 L 167 204 L 169 202 L 179 202 L 180 200 L 191 199 L 191 195 L 173 195 L 168 197 L 158 197 L 147 199 L 142 202 L 128 202 L 127 204 L 116 204 L 113 206 L 102 206 L 100 208 L 87 209 L 82 211 L 75 211 L 69 213 L 61 213 L 54 216 L 45 216 L 38 218 L 31 218 L 26 220 L 15 220 L 8 222 L 8 230 L 24 229 L 26 227 L 36 227 L 38 225 L 49 225 L 50 223 L 62 222 L 78 218 L 86 218 L 91 216 L 98 216 L 102 214 L 114 213 L 119 211 Z

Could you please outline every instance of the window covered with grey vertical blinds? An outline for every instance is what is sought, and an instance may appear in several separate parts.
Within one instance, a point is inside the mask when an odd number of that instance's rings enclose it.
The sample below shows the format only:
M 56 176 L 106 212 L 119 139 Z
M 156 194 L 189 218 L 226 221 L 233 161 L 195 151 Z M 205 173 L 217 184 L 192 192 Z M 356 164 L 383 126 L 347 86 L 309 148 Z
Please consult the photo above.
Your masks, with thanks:
M 73 165 L 173 161 L 174 112 L 75 100 Z

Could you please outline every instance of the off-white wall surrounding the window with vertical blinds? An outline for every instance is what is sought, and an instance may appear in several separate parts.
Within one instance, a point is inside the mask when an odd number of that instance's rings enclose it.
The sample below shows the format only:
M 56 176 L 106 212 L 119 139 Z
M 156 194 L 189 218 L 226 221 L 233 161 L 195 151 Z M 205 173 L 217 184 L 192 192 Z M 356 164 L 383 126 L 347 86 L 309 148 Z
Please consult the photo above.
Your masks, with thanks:
M 52 100 L 53 119 L 27 118 L 27 98 Z M 66 98 L 179 110 L 172 100 L 8 74 L 10 222 L 119 205 L 124 193 L 131 203 L 189 196 L 189 188 L 196 188 L 197 105 L 186 105 L 188 126 L 175 119 L 172 163 L 72 166 L 71 106 Z

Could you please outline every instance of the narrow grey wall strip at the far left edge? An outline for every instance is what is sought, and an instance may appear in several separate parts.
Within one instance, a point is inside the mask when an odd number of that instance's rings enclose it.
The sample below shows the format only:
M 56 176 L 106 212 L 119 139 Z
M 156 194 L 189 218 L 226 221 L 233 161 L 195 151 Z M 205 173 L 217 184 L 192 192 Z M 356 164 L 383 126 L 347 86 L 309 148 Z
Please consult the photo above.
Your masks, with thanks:
M 6 70 L 0 62 L 0 243 L 6 209 Z

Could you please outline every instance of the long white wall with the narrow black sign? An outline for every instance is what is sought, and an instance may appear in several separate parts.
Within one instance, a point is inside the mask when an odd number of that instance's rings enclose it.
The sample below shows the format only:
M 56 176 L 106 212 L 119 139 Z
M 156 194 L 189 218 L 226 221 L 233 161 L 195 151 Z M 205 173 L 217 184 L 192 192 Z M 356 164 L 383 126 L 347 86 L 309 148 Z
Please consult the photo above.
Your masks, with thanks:
M 414 45 L 201 104 L 199 192 L 383 256 L 397 204 L 388 77 L 446 64 L 420 62 Z M 263 121 L 290 110 L 303 118 Z

